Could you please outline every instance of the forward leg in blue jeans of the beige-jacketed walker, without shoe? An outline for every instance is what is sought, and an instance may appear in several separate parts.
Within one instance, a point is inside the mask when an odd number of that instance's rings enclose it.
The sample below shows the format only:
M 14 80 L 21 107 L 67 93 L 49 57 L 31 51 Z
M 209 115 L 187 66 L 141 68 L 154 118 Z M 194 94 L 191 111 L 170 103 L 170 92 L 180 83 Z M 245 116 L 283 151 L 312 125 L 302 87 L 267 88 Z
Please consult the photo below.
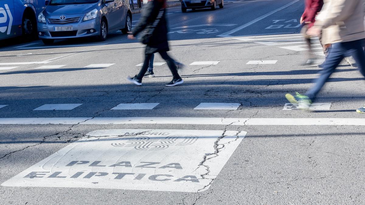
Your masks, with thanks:
M 321 71 L 319 78 L 315 80 L 315 85 L 312 89 L 306 93 L 306 96 L 308 96 L 311 101 L 314 101 L 320 89 L 322 89 L 333 71 L 342 61 L 345 52 L 346 49 L 343 47 L 342 43 L 335 43 L 332 45 L 332 48 L 328 51 L 328 56 L 324 62 L 323 70 Z

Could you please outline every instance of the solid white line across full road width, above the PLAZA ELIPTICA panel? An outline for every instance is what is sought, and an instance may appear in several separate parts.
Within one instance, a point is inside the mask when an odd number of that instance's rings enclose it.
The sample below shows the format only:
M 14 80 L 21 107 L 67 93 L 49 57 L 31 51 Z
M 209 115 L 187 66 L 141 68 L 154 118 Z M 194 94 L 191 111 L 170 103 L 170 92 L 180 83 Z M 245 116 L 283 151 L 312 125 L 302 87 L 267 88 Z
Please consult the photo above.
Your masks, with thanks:
M 0 124 L 207 124 L 365 126 L 365 118 L 43 117 L 0 118 Z

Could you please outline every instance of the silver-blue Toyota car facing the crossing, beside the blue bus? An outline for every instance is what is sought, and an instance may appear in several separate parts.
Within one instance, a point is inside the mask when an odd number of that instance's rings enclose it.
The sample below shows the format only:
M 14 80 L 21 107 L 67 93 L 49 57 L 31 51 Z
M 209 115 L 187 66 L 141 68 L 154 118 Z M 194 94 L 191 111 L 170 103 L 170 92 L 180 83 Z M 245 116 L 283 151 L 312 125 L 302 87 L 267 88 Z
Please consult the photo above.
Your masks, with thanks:
M 54 39 L 97 36 L 131 31 L 129 0 L 50 0 L 38 15 L 38 36 L 45 44 Z

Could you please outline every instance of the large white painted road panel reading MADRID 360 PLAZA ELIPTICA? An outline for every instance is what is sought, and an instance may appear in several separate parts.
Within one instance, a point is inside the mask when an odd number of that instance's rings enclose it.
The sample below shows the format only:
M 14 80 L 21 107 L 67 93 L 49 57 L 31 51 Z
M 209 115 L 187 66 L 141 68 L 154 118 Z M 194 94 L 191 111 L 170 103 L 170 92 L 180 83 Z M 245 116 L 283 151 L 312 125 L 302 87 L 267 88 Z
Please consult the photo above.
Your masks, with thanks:
M 111 129 L 89 132 L 1 186 L 203 192 L 247 132 Z M 223 137 L 221 137 L 223 136 Z

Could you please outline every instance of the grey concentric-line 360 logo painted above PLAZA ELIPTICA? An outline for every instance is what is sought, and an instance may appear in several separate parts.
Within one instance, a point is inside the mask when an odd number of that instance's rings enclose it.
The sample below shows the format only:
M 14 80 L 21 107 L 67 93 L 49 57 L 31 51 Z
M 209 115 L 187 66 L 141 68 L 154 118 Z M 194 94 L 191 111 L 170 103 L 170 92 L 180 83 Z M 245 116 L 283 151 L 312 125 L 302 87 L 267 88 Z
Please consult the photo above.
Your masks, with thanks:
M 125 142 L 113 143 L 115 147 L 134 147 L 136 150 L 164 150 L 169 146 L 186 146 L 196 142 L 197 137 L 192 135 L 173 135 L 166 138 L 151 139 L 146 136 L 129 136 L 120 138 Z

